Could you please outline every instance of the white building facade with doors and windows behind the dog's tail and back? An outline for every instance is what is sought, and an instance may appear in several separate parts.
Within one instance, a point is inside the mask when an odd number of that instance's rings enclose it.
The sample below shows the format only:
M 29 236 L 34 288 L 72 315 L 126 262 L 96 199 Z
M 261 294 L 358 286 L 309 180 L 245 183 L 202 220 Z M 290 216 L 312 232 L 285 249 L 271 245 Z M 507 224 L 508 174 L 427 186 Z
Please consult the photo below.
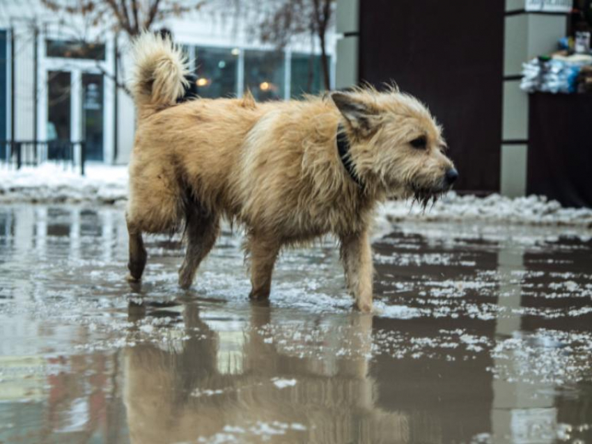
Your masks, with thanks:
M 87 160 L 125 164 L 135 122 L 121 87 L 130 72 L 130 43 L 55 15 L 37 0 L 0 4 L 0 141 L 84 141 Z M 210 11 L 154 28 L 169 29 L 187 51 L 203 97 L 241 97 L 248 89 L 256 100 L 285 100 L 323 89 L 320 48 L 310 37 L 276 49 L 244 25 L 240 17 Z M 331 56 L 332 33 L 328 41 Z M 51 149 L 38 154 L 53 155 Z M 0 144 L 0 159 L 8 155 Z

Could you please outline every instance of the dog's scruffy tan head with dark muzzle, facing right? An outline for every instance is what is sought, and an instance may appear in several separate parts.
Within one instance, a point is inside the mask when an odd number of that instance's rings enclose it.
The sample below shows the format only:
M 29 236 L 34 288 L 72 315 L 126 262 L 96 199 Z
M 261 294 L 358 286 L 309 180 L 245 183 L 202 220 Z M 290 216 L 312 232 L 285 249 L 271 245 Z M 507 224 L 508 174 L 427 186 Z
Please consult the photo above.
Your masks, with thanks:
M 350 157 L 359 180 L 388 196 L 414 197 L 426 205 L 458 177 L 430 111 L 392 89 L 333 93 L 343 116 Z

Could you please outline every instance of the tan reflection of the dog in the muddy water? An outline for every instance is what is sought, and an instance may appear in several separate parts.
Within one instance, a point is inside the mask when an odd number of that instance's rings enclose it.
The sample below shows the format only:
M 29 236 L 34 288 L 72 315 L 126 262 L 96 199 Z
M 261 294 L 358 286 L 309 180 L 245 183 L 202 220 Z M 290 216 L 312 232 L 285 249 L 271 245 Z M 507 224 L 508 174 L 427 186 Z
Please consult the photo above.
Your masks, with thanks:
M 260 441 L 262 436 L 249 431 L 260 428 L 258 422 L 281 430 L 266 435 L 271 443 L 409 441 L 405 415 L 374 406 L 377 388 L 364 358 L 370 351 L 371 317 L 352 314 L 340 329 L 347 333 L 329 331 L 323 338 L 325 343 L 333 340 L 329 349 L 344 347 L 357 357 L 332 352 L 301 358 L 277 344 L 279 338 L 265 340 L 257 330 L 270 322 L 266 308 L 251 309 L 244 333 L 239 328 L 214 331 L 193 305 L 186 306 L 184 322 L 191 338 L 180 350 L 141 344 L 125 351 L 132 442 L 195 442 L 199 437 L 208 442 L 215 436 L 224 439 L 222 434 L 235 433 L 237 427 L 244 430 L 234 435 L 238 441 Z M 274 378 L 297 383 L 279 388 Z

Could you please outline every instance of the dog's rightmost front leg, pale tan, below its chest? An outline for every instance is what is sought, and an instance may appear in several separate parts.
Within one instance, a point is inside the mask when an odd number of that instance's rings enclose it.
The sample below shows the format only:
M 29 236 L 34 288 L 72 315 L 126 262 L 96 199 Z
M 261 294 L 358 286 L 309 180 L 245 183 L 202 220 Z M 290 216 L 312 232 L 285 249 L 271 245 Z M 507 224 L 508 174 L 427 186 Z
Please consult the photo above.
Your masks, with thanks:
M 341 237 L 345 281 L 361 312 L 372 310 L 372 248 L 368 231 Z

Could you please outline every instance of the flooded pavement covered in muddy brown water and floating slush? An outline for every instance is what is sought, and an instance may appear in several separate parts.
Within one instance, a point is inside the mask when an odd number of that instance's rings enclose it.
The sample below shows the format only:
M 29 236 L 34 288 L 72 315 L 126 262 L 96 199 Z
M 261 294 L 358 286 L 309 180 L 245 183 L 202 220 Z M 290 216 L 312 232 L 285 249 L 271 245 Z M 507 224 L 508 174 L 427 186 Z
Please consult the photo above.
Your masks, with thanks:
M 592 232 L 391 231 L 361 315 L 330 239 L 265 305 L 228 229 L 185 292 L 123 209 L 0 207 L 0 443 L 592 443 Z

